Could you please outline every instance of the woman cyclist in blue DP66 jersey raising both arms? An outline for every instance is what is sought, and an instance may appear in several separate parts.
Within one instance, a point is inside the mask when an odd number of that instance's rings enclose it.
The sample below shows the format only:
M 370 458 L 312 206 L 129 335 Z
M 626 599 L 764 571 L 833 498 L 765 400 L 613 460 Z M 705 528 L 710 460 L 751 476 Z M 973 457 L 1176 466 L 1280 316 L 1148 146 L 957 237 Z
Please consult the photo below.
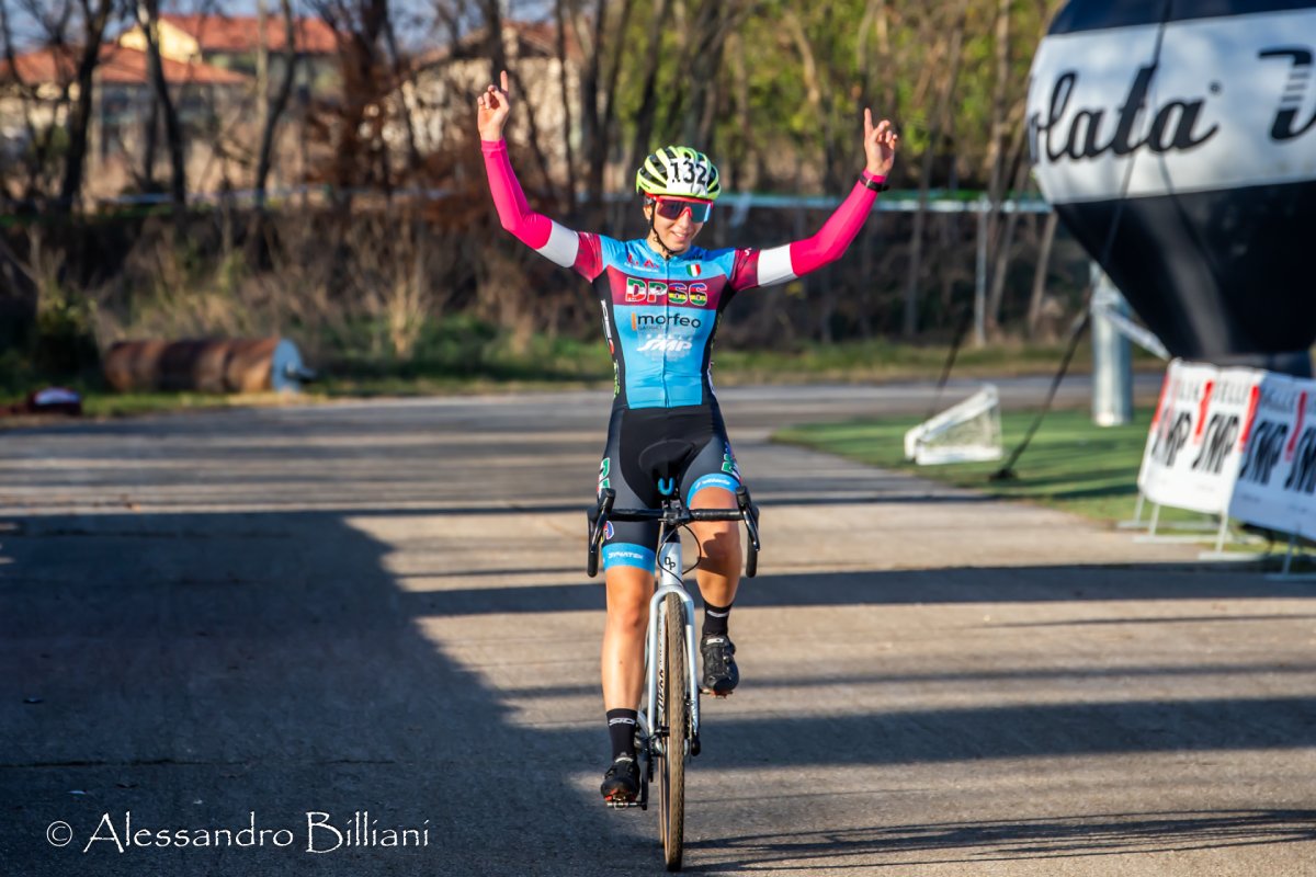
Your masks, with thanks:
M 874 126 L 871 112 L 863 110 L 867 166 L 817 234 L 767 250 L 704 250 L 695 238 L 712 216 L 721 180 L 703 153 L 669 146 L 649 155 L 636 174 L 649 231 L 615 241 L 572 231 L 526 204 L 503 141 L 512 109 L 505 71 L 478 105 L 484 168 L 503 227 L 594 281 L 603 306 L 616 380 L 599 489 L 616 490 L 617 508 L 658 508 L 663 493 L 679 490 L 691 509 L 734 509 L 741 473 L 708 375 L 717 321 L 734 293 L 791 280 L 845 252 L 895 159 L 899 137 L 891 124 Z M 728 635 L 740 582 L 740 530 L 730 522 L 691 529 L 704 600 L 700 686 L 726 696 L 740 681 Z M 604 533 L 603 702 L 612 764 L 601 792 L 609 802 L 633 801 L 640 790 L 634 728 L 657 542 L 657 523 L 609 523 Z

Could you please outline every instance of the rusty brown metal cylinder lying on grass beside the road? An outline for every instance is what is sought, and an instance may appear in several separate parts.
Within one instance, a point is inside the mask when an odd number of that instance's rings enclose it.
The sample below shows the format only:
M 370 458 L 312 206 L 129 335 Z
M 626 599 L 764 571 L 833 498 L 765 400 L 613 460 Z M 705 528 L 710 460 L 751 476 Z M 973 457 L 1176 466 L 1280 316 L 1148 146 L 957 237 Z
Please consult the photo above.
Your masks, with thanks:
M 296 391 L 309 376 L 286 338 L 121 341 L 105 354 L 103 368 L 120 392 Z

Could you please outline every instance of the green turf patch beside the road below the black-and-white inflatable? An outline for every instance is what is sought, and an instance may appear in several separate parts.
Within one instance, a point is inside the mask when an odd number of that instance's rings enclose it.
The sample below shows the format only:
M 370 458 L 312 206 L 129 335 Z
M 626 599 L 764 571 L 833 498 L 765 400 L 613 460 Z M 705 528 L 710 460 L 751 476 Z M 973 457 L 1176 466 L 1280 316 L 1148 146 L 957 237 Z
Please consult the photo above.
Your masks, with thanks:
M 1005 455 L 1023 439 L 1033 412 L 1001 415 Z M 1150 425 L 1150 410 L 1138 412 L 1126 426 L 1100 427 L 1087 410 L 1050 412 L 1015 465 L 1015 479 L 992 480 L 1003 460 L 915 465 L 904 459 L 904 434 L 923 418 L 892 417 L 849 423 L 809 425 L 782 430 L 774 440 L 916 473 L 991 496 L 1026 500 L 1099 521 L 1133 517 L 1137 476 Z M 1200 519 L 1166 509 L 1162 519 Z

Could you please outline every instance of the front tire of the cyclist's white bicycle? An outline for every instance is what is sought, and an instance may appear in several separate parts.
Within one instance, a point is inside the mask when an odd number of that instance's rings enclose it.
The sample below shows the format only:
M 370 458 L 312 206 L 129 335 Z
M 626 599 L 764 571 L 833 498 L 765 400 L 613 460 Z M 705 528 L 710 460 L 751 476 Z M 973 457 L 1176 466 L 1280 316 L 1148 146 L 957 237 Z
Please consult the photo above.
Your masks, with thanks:
M 658 835 L 667 870 L 680 870 L 686 843 L 686 736 L 690 730 L 691 680 L 686 656 L 686 617 L 676 594 L 667 594 L 663 600 L 663 617 L 662 723 L 667 726 L 667 738 L 658 778 Z

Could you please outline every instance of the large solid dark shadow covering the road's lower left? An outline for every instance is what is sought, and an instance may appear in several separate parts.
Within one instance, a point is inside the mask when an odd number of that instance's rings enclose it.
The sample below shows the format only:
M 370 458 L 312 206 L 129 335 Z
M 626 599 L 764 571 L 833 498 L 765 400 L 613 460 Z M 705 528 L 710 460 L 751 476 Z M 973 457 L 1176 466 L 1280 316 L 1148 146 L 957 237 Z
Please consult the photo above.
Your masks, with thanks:
M 583 805 L 601 723 L 509 722 L 422 635 L 392 548 L 337 515 L 22 523 L 0 533 L 4 873 L 557 876 L 649 852 L 637 823 Z M 125 814 L 146 847 L 120 852 Z M 178 845 L 249 823 L 292 843 Z M 416 843 L 370 845 L 387 830 Z

